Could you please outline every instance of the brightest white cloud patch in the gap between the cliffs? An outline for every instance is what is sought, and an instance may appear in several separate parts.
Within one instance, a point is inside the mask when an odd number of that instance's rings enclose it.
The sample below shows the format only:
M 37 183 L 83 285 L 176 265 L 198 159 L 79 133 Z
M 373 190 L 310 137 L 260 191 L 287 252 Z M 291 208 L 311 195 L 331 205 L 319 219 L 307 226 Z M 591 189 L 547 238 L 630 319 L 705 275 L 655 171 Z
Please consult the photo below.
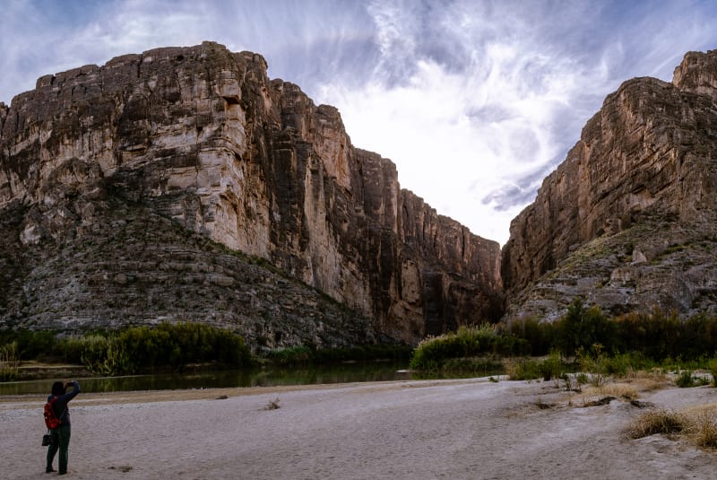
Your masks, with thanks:
M 396 13 L 400 19 L 387 19 L 393 12 L 382 10 L 377 21 L 379 31 L 388 31 L 379 36 L 382 42 L 393 35 L 393 25 L 419 23 L 405 21 L 405 11 Z M 377 72 L 375 81 L 360 88 L 325 83 L 318 96 L 339 106 L 353 144 L 397 164 L 402 187 L 503 243 L 514 214 L 531 201 L 546 167 L 563 153 L 551 127 L 569 114 L 585 73 L 550 57 L 533 39 L 515 32 L 494 36 L 510 30 L 505 24 L 479 20 L 463 17 L 464 29 L 444 31 L 461 39 L 461 68 L 420 51 L 406 57 L 382 48 L 386 64 L 396 56 L 397 62 L 412 61 L 402 83 L 384 82 Z M 489 28 L 480 30 L 484 25 Z M 410 36 L 421 32 L 404 28 L 403 43 L 412 45 Z

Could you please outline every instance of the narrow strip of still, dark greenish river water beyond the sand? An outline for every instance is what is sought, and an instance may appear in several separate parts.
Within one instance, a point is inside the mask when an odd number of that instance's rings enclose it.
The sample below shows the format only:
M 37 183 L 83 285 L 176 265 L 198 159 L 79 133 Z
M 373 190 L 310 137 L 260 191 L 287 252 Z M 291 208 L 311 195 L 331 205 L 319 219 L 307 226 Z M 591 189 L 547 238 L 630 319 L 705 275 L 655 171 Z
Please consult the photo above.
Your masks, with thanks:
M 410 380 L 411 374 L 405 371 L 406 368 L 406 364 L 402 362 L 357 362 L 294 369 L 199 371 L 191 373 L 134 375 L 128 377 L 100 377 L 81 379 L 80 383 L 83 392 L 271 387 L 276 385 Z M 1 382 L 0 395 L 48 393 L 54 380 L 55 379 Z

